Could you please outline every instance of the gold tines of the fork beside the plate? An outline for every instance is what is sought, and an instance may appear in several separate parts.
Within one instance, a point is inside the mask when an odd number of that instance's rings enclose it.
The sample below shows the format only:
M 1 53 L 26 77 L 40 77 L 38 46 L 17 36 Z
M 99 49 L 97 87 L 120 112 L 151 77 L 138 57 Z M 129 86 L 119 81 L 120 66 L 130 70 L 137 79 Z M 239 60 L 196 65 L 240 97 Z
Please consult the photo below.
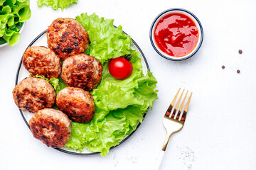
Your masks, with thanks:
M 191 95 L 190 95 L 189 98 L 188 98 L 188 101 L 187 101 L 187 103 L 186 103 L 185 108 L 183 109 L 184 103 L 185 103 L 185 101 L 186 101 L 186 96 L 188 95 L 188 91 L 186 91 L 186 95 L 185 95 L 185 97 L 183 97 L 183 101 L 182 101 L 182 103 L 181 103 L 181 106 L 180 106 L 179 109 L 178 109 L 178 106 L 180 105 L 180 102 L 181 102 L 181 98 L 182 98 L 183 93 L 184 93 L 184 91 L 185 91 L 185 90 L 183 89 L 183 91 L 182 91 L 182 93 L 181 93 L 181 96 L 178 98 L 178 101 L 177 101 L 176 106 L 175 106 L 174 104 L 175 104 L 175 102 L 176 102 L 176 98 L 178 97 L 178 93 L 179 93 L 180 90 L 181 90 L 181 88 L 178 89 L 178 91 L 177 91 L 177 93 L 176 93 L 176 95 L 175 95 L 173 101 L 171 101 L 171 104 L 170 104 L 169 108 L 167 109 L 167 111 L 166 111 L 166 113 L 165 113 L 165 116 L 169 117 L 169 116 L 171 115 L 171 119 L 175 119 L 175 120 L 184 122 L 185 119 L 186 119 L 186 114 L 187 114 L 187 112 L 188 112 L 188 106 L 189 106 L 189 103 L 190 103 L 190 101 L 191 101 L 192 92 L 191 92 Z M 175 106 L 175 108 L 174 108 L 174 106 Z M 173 109 L 173 108 L 174 108 L 174 109 Z M 174 111 L 172 111 L 172 110 L 174 110 Z M 176 114 L 177 110 L 178 110 L 178 113 Z M 182 112 L 182 111 L 183 111 L 183 112 Z M 171 113 L 172 113 L 172 114 L 171 114 Z M 176 115 L 176 116 L 175 116 L 175 115 Z M 180 116 L 182 116 L 182 117 L 180 118 Z M 180 118 L 180 120 L 179 120 L 179 118 Z

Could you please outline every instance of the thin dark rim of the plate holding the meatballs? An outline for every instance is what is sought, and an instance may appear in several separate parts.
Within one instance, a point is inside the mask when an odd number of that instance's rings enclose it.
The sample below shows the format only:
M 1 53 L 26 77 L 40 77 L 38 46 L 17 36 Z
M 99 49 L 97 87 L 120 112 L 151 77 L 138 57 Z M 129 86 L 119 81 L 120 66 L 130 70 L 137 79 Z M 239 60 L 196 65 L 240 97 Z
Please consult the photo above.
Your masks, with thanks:
M 124 34 L 127 35 L 127 33 L 125 33 L 125 32 L 124 32 Z M 28 45 L 28 47 L 33 46 L 34 43 L 35 43 L 39 38 L 41 38 L 43 35 L 46 35 L 46 30 L 44 30 L 43 33 L 39 34 L 39 35 Z M 136 50 L 139 50 L 139 52 L 140 52 L 140 54 L 141 54 L 141 58 L 142 58 L 142 60 L 144 61 L 144 64 L 145 64 L 145 67 L 146 67 L 146 68 L 144 68 L 144 69 L 146 69 L 146 70 L 149 69 L 149 64 L 146 62 L 146 57 L 144 56 L 144 54 L 143 54 L 142 50 L 140 49 L 139 45 L 137 45 L 137 43 L 136 43 L 133 39 L 132 39 L 132 42 L 133 42 L 133 45 L 134 45 L 135 49 L 136 49 Z M 27 48 L 28 48 L 28 47 L 27 47 Z M 21 57 L 21 62 L 20 62 L 19 65 L 18 65 L 18 70 L 17 70 L 17 74 L 16 74 L 15 85 L 17 85 L 18 82 L 19 82 L 18 80 L 19 80 L 20 70 L 21 70 L 21 67 L 22 67 L 22 59 L 23 59 L 23 55 L 22 55 L 22 57 Z M 145 74 L 145 73 L 144 73 L 144 74 Z M 21 111 L 20 109 L 19 109 L 19 111 L 20 111 L 20 113 L 21 113 L 21 116 L 22 116 L 24 122 L 26 123 L 26 125 L 27 125 L 28 128 L 30 129 L 29 124 L 28 124 L 28 121 L 27 121 L 27 119 L 26 119 L 26 117 L 25 117 L 23 111 Z M 145 118 L 145 116 L 146 116 L 146 113 L 144 114 L 144 118 Z M 139 125 L 141 125 L 141 123 L 138 123 L 136 130 L 139 128 Z M 121 144 L 122 144 L 124 141 L 126 141 L 130 136 L 132 136 L 136 130 L 132 131 L 132 133 L 131 133 L 130 135 L 128 135 L 127 137 L 124 137 L 124 139 L 119 142 L 119 145 L 121 145 Z M 114 146 L 114 147 L 117 147 L 117 146 L 119 146 L 119 145 L 116 145 L 116 146 Z M 112 148 L 114 148 L 114 147 L 112 147 Z M 112 148 L 110 148 L 110 149 L 112 149 Z M 70 149 L 62 149 L 62 148 L 54 148 L 54 149 L 57 149 L 57 150 L 60 151 L 60 152 L 64 152 L 64 153 L 67 153 L 67 154 L 75 154 L 75 155 L 100 154 L 100 152 L 79 153 L 79 152 L 71 152 Z

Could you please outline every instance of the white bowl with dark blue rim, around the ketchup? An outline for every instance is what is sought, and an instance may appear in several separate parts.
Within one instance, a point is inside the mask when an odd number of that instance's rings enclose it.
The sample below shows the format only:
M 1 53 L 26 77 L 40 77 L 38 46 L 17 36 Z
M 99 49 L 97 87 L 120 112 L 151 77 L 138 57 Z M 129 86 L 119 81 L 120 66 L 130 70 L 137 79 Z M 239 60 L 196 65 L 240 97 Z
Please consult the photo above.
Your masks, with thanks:
M 154 37 L 154 32 L 155 32 L 157 23 L 159 23 L 161 18 L 163 18 L 164 16 L 167 16 L 171 13 L 181 13 L 183 15 L 188 16 L 189 18 L 191 18 L 191 20 L 196 24 L 196 27 L 198 28 L 198 41 L 196 42 L 196 46 L 193 47 L 193 50 L 191 50 L 191 52 L 189 52 L 187 55 L 183 55 L 181 57 L 174 57 L 174 56 L 168 55 L 165 52 L 163 52 L 156 44 L 156 39 Z M 186 59 L 192 57 L 193 55 L 195 55 L 196 52 L 201 47 L 202 42 L 203 42 L 203 27 L 201 25 L 201 22 L 198 20 L 198 18 L 190 11 L 187 11 L 186 9 L 183 9 L 183 8 L 170 8 L 166 11 L 161 12 L 158 16 L 156 16 L 153 23 L 151 24 L 151 28 L 149 31 L 149 38 L 151 41 L 151 45 L 154 47 L 154 50 L 156 50 L 156 52 L 159 55 L 161 55 L 161 57 L 164 57 L 168 60 L 173 60 L 173 61 L 186 60 Z

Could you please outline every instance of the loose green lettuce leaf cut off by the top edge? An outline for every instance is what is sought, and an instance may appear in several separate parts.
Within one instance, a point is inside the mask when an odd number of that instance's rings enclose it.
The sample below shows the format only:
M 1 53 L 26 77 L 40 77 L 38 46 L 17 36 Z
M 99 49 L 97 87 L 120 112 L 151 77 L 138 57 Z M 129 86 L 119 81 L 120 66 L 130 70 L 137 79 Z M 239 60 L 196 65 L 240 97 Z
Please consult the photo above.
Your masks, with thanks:
M 61 8 L 61 10 L 63 11 L 64 8 L 67 8 L 68 6 L 77 2 L 78 0 L 38 0 L 37 4 L 39 7 L 46 5 L 51 6 L 55 10 Z

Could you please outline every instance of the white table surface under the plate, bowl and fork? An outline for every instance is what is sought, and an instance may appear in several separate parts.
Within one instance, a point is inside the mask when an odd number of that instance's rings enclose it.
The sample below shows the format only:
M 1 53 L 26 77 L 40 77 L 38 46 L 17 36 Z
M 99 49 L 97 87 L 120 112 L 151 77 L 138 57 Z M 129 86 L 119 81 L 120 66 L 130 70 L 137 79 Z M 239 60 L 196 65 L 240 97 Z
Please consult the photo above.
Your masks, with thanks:
M 194 13 L 204 30 L 201 49 L 183 62 L 160 57 L 149 41 L 154 18 L 176 7 Z M 54 11 L 38 8 L 31 0 L 32 16 L 20 42 L 0 48 L 0 169 L 152 169 L 166 135 L 162 118 L 179 87 L 193 91 L 193 96 L 186 123 L 171 137 L 161 169 L 256 169 L 255 7 L 252 0 L 79 0 L 64 11 Z M 55 18 L 75 18 L 85 12 L 122 25 L 158 80 L 159 99 L 153 111 L 132 137 L 106 157 L 74 156 L 46 147 L 33 138 L 11 94 L 28 44 Z

